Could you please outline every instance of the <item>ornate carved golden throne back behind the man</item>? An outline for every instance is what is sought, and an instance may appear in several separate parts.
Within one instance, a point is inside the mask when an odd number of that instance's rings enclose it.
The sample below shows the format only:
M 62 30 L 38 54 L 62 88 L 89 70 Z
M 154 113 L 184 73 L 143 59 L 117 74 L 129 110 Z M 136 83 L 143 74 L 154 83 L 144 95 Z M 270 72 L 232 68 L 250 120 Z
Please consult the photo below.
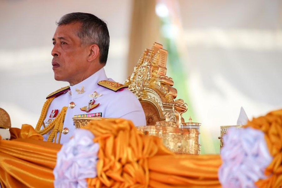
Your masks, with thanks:
M 139 99 L 147 125 L 155 125 L 166 118 L 179 122 L 179 114 L 187 110 L 183 100 L 174 101 L 177 90 L 172 87 L 172 78 L 166 76 L 167 54 L 161 44 L 154 43 L 151 50 L 144 51 L 132 75 L 124 82 Z

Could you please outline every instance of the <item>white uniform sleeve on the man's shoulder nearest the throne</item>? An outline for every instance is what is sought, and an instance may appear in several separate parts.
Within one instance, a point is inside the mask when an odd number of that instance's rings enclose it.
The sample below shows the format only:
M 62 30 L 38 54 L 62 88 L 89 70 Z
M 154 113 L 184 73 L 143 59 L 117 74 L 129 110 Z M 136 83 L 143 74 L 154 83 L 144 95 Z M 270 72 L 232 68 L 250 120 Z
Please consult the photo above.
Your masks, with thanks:
M 109 101 L 105 117 L 131 120 L 135 126 L 145 126 L 144 110 L 137 97 L 128 89 L 117 91 Z

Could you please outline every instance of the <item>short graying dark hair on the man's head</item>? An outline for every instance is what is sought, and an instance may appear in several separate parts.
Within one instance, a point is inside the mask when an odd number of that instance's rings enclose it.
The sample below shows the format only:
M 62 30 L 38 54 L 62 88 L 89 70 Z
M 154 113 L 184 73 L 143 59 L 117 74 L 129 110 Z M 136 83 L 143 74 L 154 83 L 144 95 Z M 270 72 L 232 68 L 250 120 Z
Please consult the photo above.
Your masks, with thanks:
M 110 36 L 107 24 L 90 13 L 69 13 L 60 18 L 57 25 L 66 25 L 81 22 L 81 29 L 77 36 L 81 39 L 81 44 L 97 44 L 100 49 L 100 63 L 107 62 Z

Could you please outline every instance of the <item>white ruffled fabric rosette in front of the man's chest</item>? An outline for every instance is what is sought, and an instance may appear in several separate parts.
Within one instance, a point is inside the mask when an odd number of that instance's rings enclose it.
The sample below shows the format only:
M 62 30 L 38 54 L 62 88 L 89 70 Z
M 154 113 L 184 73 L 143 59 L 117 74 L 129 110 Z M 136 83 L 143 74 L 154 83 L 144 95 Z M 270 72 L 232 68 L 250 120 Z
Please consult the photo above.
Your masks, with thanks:
M 87 187 L 85 179 L 97 176 L 99 144 L 93 138 L 90 131 L 76 129 L 73 138 L 62 146 L 53 171 L 56 188 Z

